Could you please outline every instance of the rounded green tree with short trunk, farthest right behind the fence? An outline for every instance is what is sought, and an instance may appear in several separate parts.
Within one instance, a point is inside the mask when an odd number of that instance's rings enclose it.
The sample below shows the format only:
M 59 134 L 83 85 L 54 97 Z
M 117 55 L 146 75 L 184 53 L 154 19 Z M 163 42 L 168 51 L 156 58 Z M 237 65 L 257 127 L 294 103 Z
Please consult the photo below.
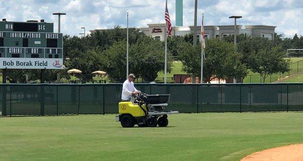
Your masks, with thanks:
M 263 83 L 266 77 L 274 73 L 285 73 L 289 70 L 289 60 L 284 59 L 281 46 L 271 49 L 261 49 L 259 52 L 251 53 L 251 71 L 261 74 Z

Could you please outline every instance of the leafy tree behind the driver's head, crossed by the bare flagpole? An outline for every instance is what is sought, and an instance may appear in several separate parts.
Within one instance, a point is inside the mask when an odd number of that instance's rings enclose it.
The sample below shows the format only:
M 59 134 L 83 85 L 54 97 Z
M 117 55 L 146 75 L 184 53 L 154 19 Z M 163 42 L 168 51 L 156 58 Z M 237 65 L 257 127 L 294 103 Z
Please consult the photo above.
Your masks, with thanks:
M 113 44 L 103 52 L 105 69 L 109 78 L 114 82 L 123 82 L 126 79 L 126 41 Z M 171 70 L 171 58 L 168 53 L 168 72 Z M 141 77 L 143 81 L 154 81 L 159 71 L 164 70 L 164 42 L 151 37 L 141 37 L 129 49 L 129 73 Z

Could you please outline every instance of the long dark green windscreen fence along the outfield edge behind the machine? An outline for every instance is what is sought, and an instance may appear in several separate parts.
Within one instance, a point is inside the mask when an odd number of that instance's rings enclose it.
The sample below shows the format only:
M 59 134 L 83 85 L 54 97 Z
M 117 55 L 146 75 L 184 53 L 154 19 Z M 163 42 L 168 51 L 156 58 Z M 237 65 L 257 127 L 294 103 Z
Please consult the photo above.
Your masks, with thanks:
M 135 84 L 180 113 L 303 111 L 303 84 Z M 1 84 L 5 116 L 116 114 L 122 84 Z

